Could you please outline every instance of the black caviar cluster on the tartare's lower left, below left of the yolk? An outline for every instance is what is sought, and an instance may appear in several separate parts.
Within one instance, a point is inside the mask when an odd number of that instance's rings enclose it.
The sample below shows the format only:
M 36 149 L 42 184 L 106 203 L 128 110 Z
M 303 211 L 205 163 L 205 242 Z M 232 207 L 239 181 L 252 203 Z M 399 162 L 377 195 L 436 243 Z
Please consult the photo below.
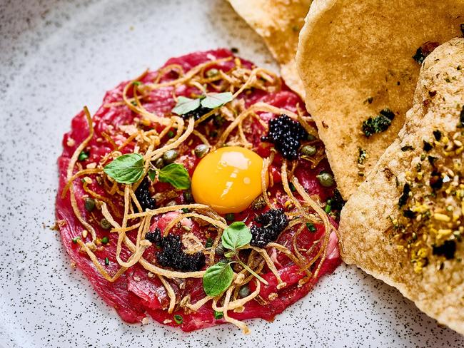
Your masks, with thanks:
M 173 270 L 181 272 L 195 272 L 205 266 L 206 257 L 203 252 L 186 254 L 182 250 L 180 235 L 161 236 L 161 230 L 156 227 L 153 232 L 145 235 L 146 240 L 161 247 L 156 252 L 156 260 L 162 267 L 171 267 Z

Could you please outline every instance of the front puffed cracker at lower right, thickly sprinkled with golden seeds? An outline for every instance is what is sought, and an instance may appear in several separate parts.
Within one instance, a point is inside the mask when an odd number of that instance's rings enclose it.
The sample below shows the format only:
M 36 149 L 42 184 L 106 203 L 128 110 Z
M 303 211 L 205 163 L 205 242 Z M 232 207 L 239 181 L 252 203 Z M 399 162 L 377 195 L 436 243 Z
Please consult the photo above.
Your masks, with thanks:
M 425 59 L 404 127 L 351 195 L 339 229 L 343 260 L 461 334 L 463 123 L 464 39 L 452 39 Z

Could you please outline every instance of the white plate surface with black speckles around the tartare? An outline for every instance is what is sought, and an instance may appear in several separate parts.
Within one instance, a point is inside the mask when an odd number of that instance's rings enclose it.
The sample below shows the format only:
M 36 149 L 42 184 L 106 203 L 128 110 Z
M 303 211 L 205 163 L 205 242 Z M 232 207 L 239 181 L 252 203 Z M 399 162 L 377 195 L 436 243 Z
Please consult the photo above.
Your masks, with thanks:
M 0 0 L 0 347 L 464 347 L 398 291 L 342 265 L 275 322 L 186 334 L 119 319 L 54 223 L 61 137 L 84 104 L 171 56 L 237 47 L 276 68 L 222 0 Z

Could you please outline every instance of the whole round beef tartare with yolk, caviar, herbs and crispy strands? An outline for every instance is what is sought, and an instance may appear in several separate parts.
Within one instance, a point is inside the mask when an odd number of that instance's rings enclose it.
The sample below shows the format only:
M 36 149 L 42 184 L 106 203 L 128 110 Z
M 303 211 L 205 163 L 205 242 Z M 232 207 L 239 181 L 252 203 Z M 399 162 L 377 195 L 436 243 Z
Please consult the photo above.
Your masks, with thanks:
M 248 332 L 340 263 L 343 200 L 311 116 L 231 51 L 121 83 L 63 146 L 61 239 L 126 322 Z

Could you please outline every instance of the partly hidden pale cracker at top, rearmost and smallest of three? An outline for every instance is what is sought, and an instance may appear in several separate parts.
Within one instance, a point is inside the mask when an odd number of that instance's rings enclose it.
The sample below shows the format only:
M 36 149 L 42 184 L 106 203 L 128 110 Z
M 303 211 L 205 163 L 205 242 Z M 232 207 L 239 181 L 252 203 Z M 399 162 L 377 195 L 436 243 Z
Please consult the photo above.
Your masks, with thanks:
M 296 71 L 298 33 L 312 0 L 228 0 L 233 9 L 262 36 L 269 51 L 281 65 L 288 87 L 303 96 L 303 84 Z

